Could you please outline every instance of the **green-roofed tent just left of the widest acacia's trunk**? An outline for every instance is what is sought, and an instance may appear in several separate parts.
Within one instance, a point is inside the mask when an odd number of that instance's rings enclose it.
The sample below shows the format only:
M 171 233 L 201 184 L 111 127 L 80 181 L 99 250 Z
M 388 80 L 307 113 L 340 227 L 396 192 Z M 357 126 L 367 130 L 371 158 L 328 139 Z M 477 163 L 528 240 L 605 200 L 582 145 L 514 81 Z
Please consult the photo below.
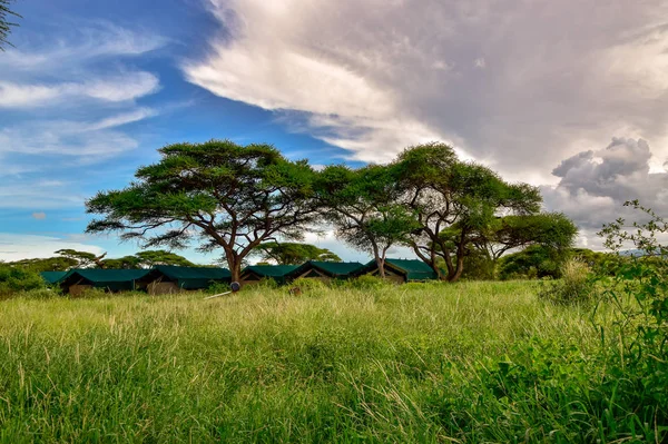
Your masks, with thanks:
M 229 283 L 232 279 L 228 269 L 217 267 L 156 265 L 150 272 L 150 282 L 146 285 L 150 295 L 205 289 L 212 284 Z

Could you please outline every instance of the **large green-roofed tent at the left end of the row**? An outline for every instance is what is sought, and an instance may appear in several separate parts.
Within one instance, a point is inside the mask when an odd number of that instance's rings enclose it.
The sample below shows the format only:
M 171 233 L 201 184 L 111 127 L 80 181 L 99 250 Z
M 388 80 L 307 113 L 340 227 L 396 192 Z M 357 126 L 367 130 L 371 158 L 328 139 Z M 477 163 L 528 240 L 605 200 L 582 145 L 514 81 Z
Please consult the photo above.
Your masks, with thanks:
M 90 288 L 108 292 L 128 292 L 146 287 L 148 269 L 90 269 L 69 270 L 58 284 L 65 293 L 79 296 Z

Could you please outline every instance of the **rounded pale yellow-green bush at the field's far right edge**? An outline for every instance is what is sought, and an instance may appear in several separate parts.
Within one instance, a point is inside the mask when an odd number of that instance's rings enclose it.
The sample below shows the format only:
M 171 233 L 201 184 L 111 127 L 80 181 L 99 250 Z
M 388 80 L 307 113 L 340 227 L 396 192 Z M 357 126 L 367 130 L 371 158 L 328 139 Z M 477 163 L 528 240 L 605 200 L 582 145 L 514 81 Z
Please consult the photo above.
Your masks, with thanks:
M 547 284 L 539 296 L 560 305 L 586 305 L 592 302 L 591 269 L 578 259 L 568 259 L 561 267 L 561 279 Z

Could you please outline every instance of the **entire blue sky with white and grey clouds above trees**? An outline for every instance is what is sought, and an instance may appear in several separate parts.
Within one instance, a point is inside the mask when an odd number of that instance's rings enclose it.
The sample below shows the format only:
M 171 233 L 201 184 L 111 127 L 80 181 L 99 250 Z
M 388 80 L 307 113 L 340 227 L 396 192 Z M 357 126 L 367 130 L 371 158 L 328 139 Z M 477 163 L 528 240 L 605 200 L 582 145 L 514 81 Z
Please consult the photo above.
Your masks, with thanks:
M 668 215 L 661 0 L 18 0 L 0 52 L 0 260 L 136 244 L 85 200 L 180 141 L 268 142 L 313 165 L 451 144 L 601 248 L 640 199 Z M 331 234 L 306 241 L 364 260 Z M 218 255 L 179 251 L 199 263 Z M 393 251 L 409 256 L 406 250 Z

